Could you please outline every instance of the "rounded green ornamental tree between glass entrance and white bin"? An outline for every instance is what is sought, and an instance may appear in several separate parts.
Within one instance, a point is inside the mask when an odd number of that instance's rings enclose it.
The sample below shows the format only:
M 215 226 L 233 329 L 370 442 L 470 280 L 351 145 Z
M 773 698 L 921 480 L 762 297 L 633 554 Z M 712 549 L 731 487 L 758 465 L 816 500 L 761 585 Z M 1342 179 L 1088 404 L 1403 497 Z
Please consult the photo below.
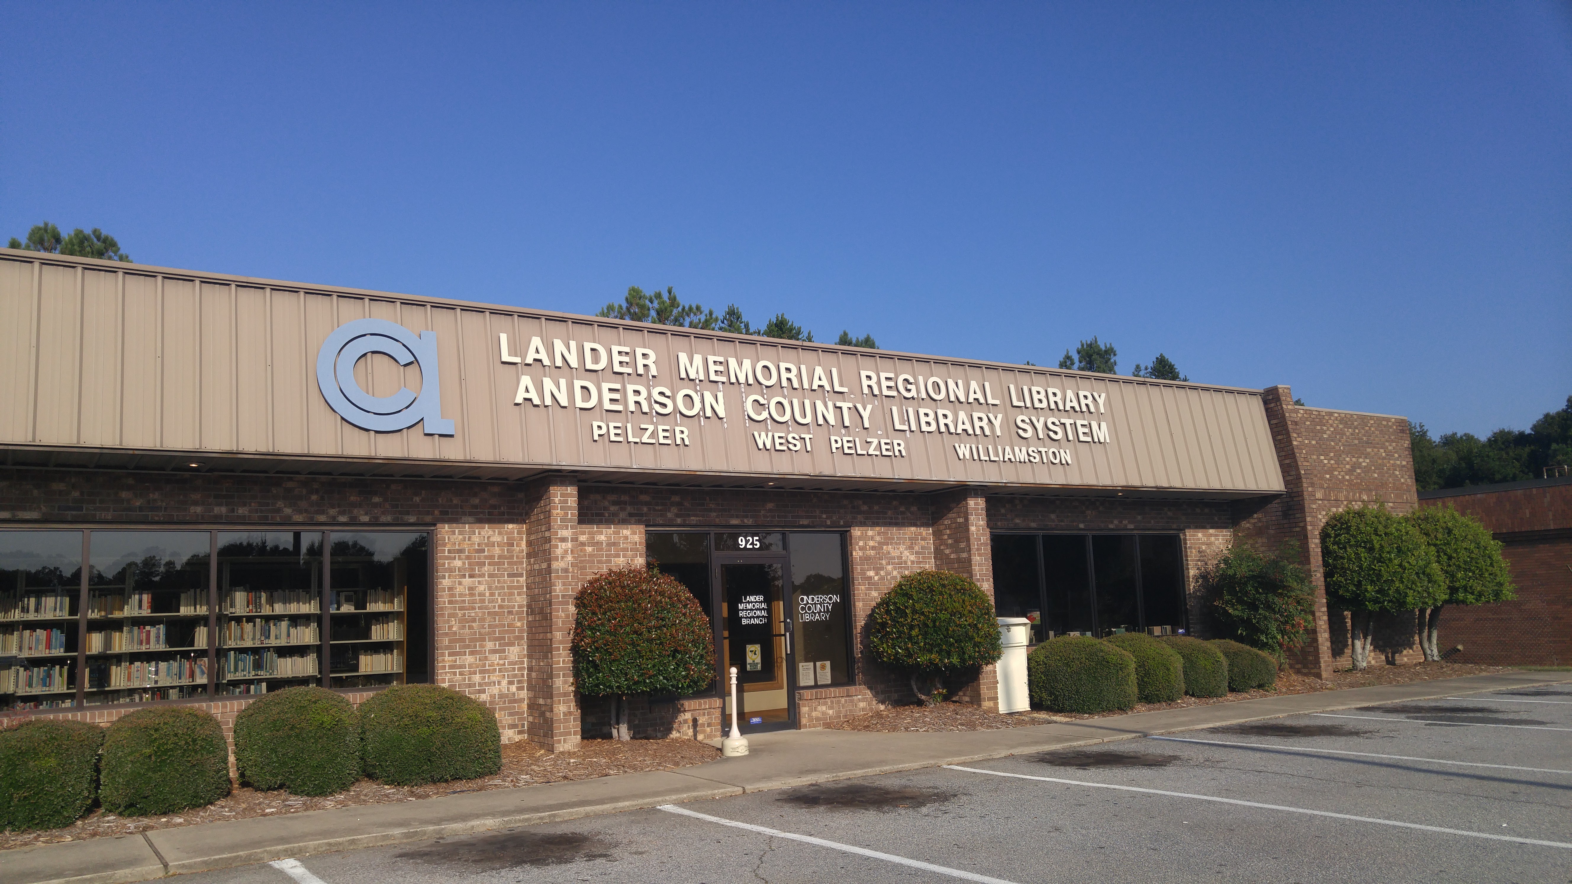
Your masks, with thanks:
M 868 646 L 876 661 L 905 670 L 924 703 L 945 695 L 945 678 L 998 662 L 994 599 L 949 571 L 913 571 L 868 613 Z M 923 691 L 923 687 L 927 691 Z

